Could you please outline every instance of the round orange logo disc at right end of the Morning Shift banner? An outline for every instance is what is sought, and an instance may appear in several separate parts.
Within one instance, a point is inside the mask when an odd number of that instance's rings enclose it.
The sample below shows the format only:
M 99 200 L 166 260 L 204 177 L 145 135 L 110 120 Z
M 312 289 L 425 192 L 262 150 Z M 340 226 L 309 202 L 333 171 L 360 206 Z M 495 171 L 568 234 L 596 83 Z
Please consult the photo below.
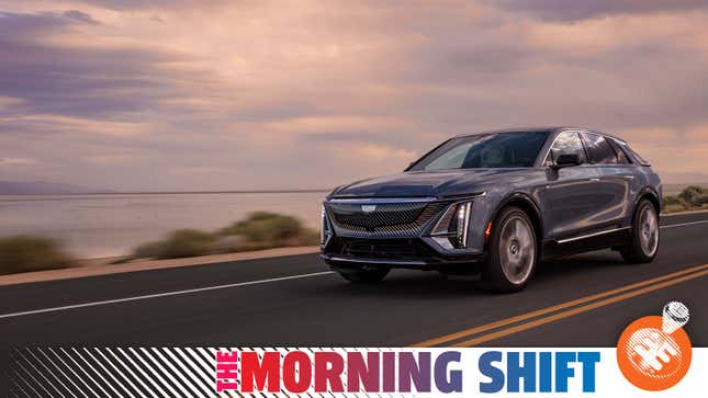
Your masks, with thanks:
M 664 390 L 676 385 L 690 366 L 688 334 L 666 317 L 643 317 L 631 322 L 617 342 L 617 364 L 634 386 Z

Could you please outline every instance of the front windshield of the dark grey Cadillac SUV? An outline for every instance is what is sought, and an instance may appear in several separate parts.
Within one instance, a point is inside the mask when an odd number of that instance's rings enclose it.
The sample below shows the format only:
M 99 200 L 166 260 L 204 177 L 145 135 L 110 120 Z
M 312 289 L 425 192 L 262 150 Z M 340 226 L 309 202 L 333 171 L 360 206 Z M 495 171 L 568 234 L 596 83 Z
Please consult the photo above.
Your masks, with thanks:
M 532 167 L 547 132 L 509 132 L 452 138 L 409 170 Z

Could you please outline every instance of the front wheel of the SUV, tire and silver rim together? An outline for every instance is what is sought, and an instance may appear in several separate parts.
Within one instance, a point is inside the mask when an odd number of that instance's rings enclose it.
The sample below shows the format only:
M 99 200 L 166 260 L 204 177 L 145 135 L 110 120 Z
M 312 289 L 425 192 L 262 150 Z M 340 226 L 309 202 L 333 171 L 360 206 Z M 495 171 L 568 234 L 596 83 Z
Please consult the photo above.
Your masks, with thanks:
M 507 207 L 493 225 L 480 286 L 502 293 L 520 291 L 538 259 L 533 224 L 520 208 Z

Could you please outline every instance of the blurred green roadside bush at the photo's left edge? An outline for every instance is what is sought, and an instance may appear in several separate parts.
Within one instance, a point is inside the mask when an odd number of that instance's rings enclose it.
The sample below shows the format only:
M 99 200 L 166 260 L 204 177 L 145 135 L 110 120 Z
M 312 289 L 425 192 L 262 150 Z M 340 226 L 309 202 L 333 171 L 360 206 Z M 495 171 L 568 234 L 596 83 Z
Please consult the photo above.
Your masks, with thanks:
M 71 258 L 50 238 L 0 238 L 0 275 L 71 266 Z

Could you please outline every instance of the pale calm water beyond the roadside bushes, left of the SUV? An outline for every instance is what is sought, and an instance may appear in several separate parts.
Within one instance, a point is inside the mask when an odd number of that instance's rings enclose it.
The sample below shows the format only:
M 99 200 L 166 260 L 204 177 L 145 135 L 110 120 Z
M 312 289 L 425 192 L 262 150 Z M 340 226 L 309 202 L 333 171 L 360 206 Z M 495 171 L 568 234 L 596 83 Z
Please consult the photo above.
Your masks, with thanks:
M 179 228 L 213 230 L 269 211 L 318 228 L 326 192 L 0 195 L 0 236 L 56 238 L 78 258 L 113 257 Z

